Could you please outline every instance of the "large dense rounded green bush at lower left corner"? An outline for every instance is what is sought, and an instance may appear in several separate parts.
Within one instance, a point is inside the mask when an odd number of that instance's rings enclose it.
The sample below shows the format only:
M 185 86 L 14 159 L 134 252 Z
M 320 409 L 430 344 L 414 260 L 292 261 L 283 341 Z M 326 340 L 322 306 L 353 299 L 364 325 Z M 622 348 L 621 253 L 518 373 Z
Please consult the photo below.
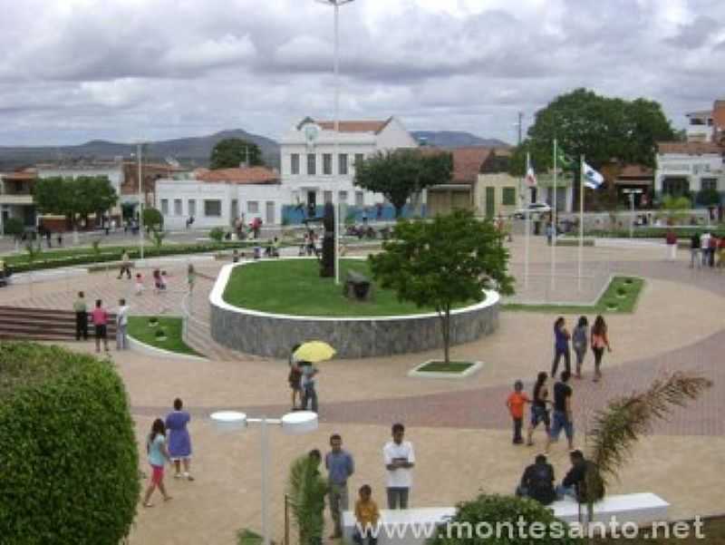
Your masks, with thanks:
M 109 362 L 0 343 L 0 540 L 119 545 L 139 501 L 126 391 Z

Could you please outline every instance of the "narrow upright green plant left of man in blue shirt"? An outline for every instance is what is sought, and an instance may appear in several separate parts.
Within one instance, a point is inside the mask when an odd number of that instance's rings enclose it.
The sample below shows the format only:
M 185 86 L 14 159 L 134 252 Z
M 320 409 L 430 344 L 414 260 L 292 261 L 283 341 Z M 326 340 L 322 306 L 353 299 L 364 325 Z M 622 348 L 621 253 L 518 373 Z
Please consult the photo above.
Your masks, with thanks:
M 292 462 L 287 479 L 287 495 L 300 545 L 317 545 L 323 540 L 327 482 L 320 475 L 319 464 L 318 458 L 304 454 Z

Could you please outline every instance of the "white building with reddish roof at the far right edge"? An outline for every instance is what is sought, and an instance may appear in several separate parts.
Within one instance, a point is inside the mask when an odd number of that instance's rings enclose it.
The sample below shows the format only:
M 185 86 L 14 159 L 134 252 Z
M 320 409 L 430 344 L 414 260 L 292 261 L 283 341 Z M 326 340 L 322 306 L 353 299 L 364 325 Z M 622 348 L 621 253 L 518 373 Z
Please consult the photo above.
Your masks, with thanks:
M 658 144 L 654 190 L 662 195 L 693 195 L 700 190 L 725 192 L 723 149 L 711 142 Z

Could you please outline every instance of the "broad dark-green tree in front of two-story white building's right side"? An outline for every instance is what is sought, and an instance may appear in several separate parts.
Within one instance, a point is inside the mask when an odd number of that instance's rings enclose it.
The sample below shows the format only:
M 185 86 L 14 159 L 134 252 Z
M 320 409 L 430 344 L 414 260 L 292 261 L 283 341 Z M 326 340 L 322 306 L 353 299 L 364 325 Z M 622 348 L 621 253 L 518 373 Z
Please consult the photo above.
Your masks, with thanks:
M 382 193 L 395 207 L 395 217 L 411 195 L 432 185 L 447 183 L 453 173 L 449 152 L 420 150 L 378 151 L 355 165 L 356 186 Z

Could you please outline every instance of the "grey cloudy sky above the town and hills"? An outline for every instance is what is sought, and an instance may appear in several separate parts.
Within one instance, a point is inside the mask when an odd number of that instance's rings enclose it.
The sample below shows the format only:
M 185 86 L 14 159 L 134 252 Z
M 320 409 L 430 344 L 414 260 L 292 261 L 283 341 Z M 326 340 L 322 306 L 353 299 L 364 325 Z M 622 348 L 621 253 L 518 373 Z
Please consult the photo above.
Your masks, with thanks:
M 0 145 L 278 137 L 333 115 L 333 9 L 317 0 L 0 0 Z M 341 117 L 516 141 L 586 86 L 683 113 L 725 98 L 723 0 L 355 0 Z

